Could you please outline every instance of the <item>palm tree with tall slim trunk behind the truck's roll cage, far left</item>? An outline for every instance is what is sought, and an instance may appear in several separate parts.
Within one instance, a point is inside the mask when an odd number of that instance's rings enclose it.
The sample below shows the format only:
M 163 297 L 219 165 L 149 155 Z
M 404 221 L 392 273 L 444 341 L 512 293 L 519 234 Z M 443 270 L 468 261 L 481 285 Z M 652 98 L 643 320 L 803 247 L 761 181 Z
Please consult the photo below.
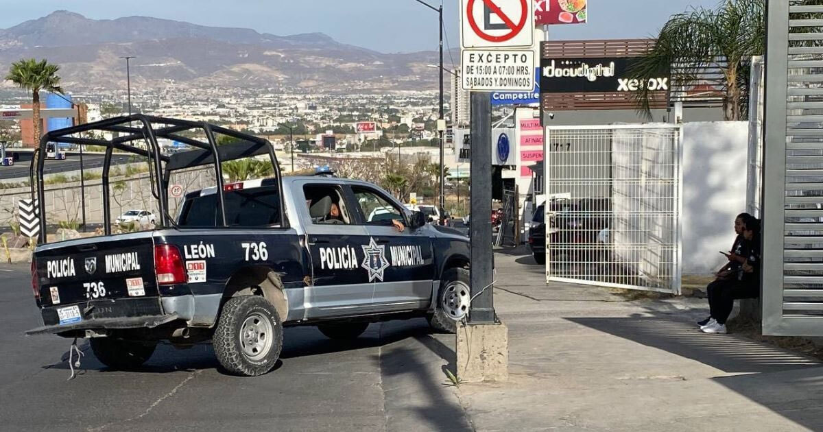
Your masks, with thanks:
M 40 143 L 40 91 L 49 91 L 63 95 L 60 87 L 60 77 L 57 72 L 60 67 L 49 64 L 45 59 L 38 62 L 34 58 L 23 58 L 15 63 L 8 71 L 6 79 L 14 82 L 21 89 L 31 91 L 32 121 L 35 129 L 35 145 Z

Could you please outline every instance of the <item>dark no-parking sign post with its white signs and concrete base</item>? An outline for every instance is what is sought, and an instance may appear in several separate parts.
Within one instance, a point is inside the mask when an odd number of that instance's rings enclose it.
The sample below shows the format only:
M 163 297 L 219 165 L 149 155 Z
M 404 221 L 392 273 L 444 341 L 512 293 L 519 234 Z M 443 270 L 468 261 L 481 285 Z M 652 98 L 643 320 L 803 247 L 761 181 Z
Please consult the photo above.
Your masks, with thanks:
M 504 381 L 509 375 L 509 333 L 495 314 L 493 294 L 491 92 L 534 88 L 533 7 L 533 0 L 460 1 L 461 86 L 473 91 L 469 189 L 472 268 L 468 319 L 458 328 L 456 351 L 458 378 L 469 383 Z M 499 138 L 498 151 L 505 153 L 507 142 L 508 137 Z M 478 355 L 480 352 L 487 355 Z

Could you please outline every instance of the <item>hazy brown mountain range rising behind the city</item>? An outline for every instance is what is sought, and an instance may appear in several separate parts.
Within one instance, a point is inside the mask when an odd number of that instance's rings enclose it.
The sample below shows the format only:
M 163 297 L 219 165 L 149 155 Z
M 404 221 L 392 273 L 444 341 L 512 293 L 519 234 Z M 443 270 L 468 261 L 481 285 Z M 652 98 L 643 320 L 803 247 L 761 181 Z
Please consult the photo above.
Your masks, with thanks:
M 133 86 L 282 88 L 319 93 L 433 90 L 437 53 L 379 53 L 322 33 L 271 35 L 147 16 L 92 20 L 58 11 L 0 30 L 0 72 L 20 58 L 60 65 L 74 91 Z M 7 84 L 8 85 L 8 84 Z

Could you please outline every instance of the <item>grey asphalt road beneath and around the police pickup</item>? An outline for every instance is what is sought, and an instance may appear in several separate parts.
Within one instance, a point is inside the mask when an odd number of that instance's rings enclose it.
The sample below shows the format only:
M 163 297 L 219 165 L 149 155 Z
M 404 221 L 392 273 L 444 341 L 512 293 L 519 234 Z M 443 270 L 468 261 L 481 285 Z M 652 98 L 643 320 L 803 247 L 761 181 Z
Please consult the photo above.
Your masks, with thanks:
M 88 346 L 72 381 L 70 341 L 40 325 L 28 266 L 0 265 L 0 430 L 469 430 L 442 368 L 454 337 L 425 320 L 372 324 L 353 344 L 287 328 L 281 365 L 221 374 L 211 346 L 160 346 L 140 372 L 105 369 Z

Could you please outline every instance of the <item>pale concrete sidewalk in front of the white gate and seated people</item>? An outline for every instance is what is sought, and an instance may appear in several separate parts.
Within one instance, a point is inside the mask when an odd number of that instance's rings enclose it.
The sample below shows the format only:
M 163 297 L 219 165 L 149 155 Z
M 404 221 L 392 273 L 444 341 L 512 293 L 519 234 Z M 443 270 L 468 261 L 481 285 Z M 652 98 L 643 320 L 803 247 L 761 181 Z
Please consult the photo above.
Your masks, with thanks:
M 530 255 L 495 260 L 510 378 L 460 385 L 475 430 L 823 429 L 816 360 L 701 333 L 705 300 L 546 286 Z

